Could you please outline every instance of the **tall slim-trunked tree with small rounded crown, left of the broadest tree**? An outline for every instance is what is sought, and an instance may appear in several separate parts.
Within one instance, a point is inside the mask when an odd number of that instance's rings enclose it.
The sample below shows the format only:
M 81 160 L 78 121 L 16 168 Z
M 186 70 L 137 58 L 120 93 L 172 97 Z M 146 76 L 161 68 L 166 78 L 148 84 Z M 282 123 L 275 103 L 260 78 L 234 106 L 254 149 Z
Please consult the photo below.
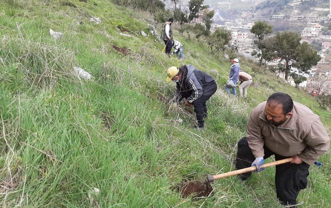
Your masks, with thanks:
M 254 41 L 254 44 L 258 45 L 258 48 L 262 51 L 259 62 L 259 64 L 262 65 L 262 60 L 264 58 L 264 48 L 265 48 L 262 45 L 263 44 L 262 41 L 265 38 L 265 36 L 272 33 L 272 26 L 266 22 L 257 21 L 252 27 L 251 32 L 255 34 L 255 36 L 258 38 L 258 40 Z

